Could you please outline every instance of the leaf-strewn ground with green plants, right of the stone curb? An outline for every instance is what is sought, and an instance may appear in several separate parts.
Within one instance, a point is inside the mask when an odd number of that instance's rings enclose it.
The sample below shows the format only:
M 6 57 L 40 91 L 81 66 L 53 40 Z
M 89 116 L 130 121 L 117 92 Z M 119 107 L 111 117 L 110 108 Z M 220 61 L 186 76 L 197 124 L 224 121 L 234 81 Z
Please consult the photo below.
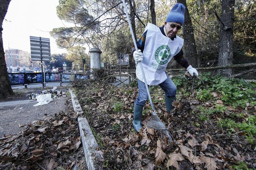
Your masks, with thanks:
M 116 88 L 102 82 L 77 82 L 73 88 L 91 130 L 104 153 L 103 169 L 255 169 L 255 83 L 202 75 L 195 97 L 191 82 L 173 78 L 178 87 L 172 114 L 165 108 L 164 92 L 150 92 L 160 119 L 175 141 L 160 138 L 144 126 L 132 127 L 133 87 Z M 149 102 L 143 110 L 145 125 L 152 114 Z

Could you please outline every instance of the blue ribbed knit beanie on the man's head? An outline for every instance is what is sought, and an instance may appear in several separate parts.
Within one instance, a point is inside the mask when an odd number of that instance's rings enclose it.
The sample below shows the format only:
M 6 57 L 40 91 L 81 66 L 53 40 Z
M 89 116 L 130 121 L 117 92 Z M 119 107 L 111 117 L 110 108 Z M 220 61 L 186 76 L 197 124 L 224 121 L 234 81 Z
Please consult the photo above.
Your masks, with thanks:
M 166 22 L 175 22 L 184 24 L 185 6 L 183 4 L 175 4 L 168 13 Z

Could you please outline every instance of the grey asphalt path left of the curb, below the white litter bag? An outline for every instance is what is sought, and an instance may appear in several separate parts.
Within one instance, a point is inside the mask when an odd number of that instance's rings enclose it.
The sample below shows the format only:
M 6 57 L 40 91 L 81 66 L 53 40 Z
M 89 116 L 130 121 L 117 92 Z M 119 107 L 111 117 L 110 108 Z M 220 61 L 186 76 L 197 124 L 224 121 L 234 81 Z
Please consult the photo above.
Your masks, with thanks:
M 54 98 L 52 102 L 42 106 L 33 106 L 38 103 L 36 100 L 1 102 L 0 138 L 3 137 L 4 134 L 8 135 L 19 133 L 22 131 L 22 127 L 25 124 L 31 123 L 35 120 L 44 120 L 45 116 L 67 110 L 68 107 L 66 101 L 68 99 L 68 96 Z

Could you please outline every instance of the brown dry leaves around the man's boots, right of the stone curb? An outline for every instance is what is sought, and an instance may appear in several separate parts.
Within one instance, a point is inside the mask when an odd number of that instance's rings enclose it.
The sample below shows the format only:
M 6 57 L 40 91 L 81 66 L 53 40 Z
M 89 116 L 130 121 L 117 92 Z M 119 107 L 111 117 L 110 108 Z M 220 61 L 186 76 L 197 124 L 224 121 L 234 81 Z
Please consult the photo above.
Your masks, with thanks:
M 103 169 L 232 169 L 245 162 L 256 167 L 255 145 L 217 125 L 217 117 L 199 120 L 194 98 L 180 98 L 172 115 L 166 112 L 161 88 L 151 89 L 160 119 L 170 129 L 173 143 L 144 126 L 139 133 L 132 127 L 134 100 L 138 89 L 114 88 L 101 83 L 73 85 L 94 136 L 104 153 Z M 156 100 L 157 99 L 157 100 Z M 143 124 L 152 111 L 147 103 Z M 195 124 L 198 123 L 198 126 Z

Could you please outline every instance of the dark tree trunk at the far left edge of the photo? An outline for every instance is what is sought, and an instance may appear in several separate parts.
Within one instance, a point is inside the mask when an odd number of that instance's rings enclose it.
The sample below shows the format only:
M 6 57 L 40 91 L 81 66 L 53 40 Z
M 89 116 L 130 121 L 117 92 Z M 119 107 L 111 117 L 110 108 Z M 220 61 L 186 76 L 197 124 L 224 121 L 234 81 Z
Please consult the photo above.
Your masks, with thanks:
M 4 99 L 7 96 L 13 95 L 14 92 L 11 88 L 11 83 L 7 73 L 7 67 L 5 63 L 4 47 L 3 47 L 3 20 L 7 13 L 8 6 L 11 0 L 0 0 L 0 99 Z

